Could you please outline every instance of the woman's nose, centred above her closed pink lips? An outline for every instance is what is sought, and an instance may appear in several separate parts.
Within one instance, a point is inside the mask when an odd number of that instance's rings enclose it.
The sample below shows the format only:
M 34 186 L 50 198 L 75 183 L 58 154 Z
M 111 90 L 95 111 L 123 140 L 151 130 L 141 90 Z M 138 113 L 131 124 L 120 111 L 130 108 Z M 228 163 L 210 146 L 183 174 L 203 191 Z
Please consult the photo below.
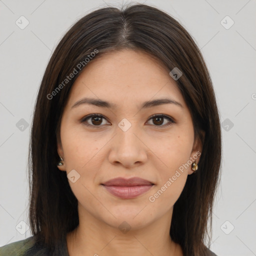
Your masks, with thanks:
M 108 160 L 114 165 L 121 164 L 126 168 L 131 168 L 147 160 L 146 150 L 148 149 L 142 136 L 135 129 L 135 125 L 131 125 L 126 131 L 117 126 L 116 134 L 112 138 Z

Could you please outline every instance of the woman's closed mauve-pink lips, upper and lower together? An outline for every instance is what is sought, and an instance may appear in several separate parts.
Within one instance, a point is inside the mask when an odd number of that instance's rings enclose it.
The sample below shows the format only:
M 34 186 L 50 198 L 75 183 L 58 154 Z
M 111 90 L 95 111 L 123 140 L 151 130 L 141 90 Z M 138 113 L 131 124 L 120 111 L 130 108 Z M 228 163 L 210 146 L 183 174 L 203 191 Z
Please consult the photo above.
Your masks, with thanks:
M 119 198 L 131 199 L 148 191 L 154 183 L 139 177 L 129 179 L 118 177 L 110 179 L 102 185 L 108 192 Z

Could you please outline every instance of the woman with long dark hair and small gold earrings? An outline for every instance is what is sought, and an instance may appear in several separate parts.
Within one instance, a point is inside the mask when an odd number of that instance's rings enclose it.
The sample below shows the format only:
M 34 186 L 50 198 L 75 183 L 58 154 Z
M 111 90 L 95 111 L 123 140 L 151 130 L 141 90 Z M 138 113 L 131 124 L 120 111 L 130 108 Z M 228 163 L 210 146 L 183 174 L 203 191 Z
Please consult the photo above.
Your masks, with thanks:
M 0 255 L 216 255 L 218 110 L 198 47 L 165 12 L 105 7 L 67 31 L 29 149 L 33 236 Z

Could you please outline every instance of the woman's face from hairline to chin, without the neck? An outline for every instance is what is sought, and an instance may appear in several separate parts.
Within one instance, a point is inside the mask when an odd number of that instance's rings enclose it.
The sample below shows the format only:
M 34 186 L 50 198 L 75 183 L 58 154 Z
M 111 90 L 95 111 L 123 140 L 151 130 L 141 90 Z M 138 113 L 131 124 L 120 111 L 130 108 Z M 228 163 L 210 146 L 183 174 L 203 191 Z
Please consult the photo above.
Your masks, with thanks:
M 125 220 L 133 229 L 171 218 L 201 144 L 168 72 L 145 53 L 122 50 L 95 58 L 75 80 L 57 150 L 80 213 L 116 228 Z M 77 103 L 84 97 L 108 105 Z M 169 102 L 143 106 L 163 98 Z M 104 185 L 116 177 L 152 185 Z

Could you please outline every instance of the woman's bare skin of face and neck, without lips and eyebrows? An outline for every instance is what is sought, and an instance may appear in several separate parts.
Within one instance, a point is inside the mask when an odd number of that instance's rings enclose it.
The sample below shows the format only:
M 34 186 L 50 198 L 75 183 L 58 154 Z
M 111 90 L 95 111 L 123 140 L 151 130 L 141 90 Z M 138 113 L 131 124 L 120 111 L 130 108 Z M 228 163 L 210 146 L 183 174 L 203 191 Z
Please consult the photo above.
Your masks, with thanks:
M 200 151 L 194 137 L 191 115 L 170 70 L 151 56 L 125 49 L 90 61 L 76 78 L 64 108 L 58 154 L 68 174 L 80 177 L 69 185 L 78 200 L 78 227 L 67 234 L 70 256 L 79 255 L 183 255 L 169 235 L 173 204 L 178 199 L 191 166 L 153 202 L 154 195 L 178 168 Z M 83 97 L 106 100 L 116 108 L 90 104 L 71 106 Z M 171 98 L 181 105 L 161 104 L 141 109 L 142 102 Z M 102 114 L 80 122 L 89 114 Z M 153 114 L 172 119 L 157 121 Z M 131 126 L 123 131 L 118 123 L 126 118 Z M 94 124 L 94 126 L 93 126 Z M 195 160 L 197 163 L 199 156 Z M 100 183 L 115 177 L 141 177 L 155 185 L 133 199 L 110 194 Z M 130 230 L 118 226 L 126 221 Z M 126 224 L 127 225 L 127 224 Z

